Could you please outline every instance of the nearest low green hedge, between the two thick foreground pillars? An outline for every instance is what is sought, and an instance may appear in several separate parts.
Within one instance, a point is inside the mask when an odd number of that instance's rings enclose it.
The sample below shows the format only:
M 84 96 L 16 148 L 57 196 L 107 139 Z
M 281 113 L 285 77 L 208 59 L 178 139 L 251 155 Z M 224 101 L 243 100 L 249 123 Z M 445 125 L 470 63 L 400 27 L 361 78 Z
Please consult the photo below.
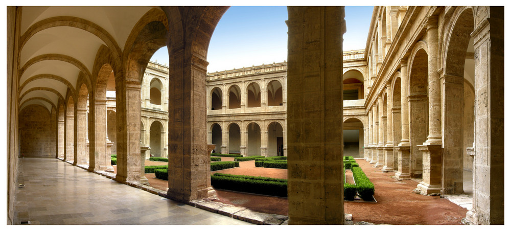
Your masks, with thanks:
M 211 185 L 215 189 L 287 197 L 286 179 L 215 173 Z

